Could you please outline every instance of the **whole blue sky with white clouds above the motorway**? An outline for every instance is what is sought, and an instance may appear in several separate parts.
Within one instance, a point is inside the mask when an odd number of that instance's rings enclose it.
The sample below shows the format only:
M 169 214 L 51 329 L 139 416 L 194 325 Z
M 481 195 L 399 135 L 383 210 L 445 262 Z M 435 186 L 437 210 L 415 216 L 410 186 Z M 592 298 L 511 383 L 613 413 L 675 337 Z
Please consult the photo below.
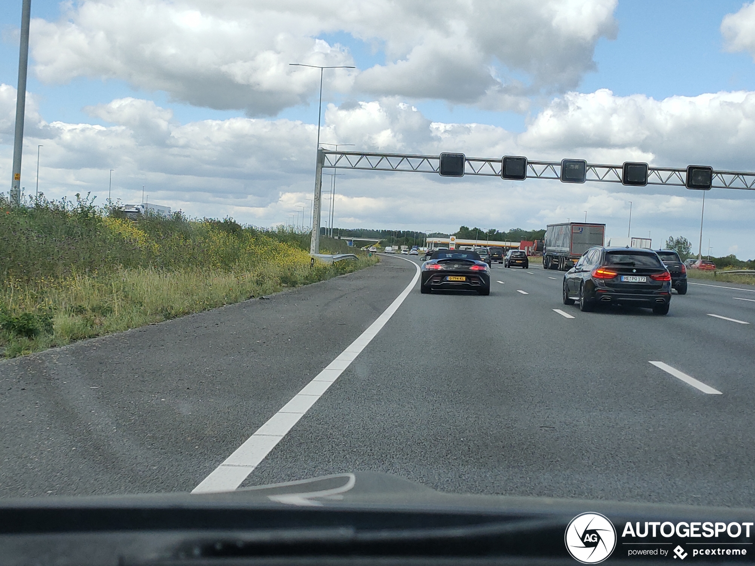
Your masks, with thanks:
M 22 185 L 290 223 L 321 141 L 363 151 L 755 171 L 755 6 L 632 0 L 32 0 Z M 0 5 L 11 180 L 21 0 Z M 112 186 L 109 184 L 112 171 Z M 606 223 L 700 244 L 680 187 L 338 171 L 335 226 Z M 328 185 L 332 177 L 325 177 Z M 147 196 L 148 195 L 148 196 Z M 329 195 L 325 196 L 328 206 Z M 309 199 L 309 200 L 308 200 Z M 706 194 L 703 253 L 755 257 L 755 194 Z M 295 222 L 295 220 L 294 220 Z M 305 221 L 306 222 L 306 221 Z

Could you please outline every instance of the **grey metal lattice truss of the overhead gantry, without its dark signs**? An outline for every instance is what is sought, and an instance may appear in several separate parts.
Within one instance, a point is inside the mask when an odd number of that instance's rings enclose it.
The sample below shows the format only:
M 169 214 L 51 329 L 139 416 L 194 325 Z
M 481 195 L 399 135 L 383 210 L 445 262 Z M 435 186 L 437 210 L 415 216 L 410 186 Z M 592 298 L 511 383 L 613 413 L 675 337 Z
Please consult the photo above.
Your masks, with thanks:
M 347 152 L 322 150 L 323 168 L 362 171 L 414 171 L 438 173 L 439 155 L 403 153 Z M 501 177 L 501 158 L 465 158 L 464 177 Z M 587 180 L 621 184 L 622 165 L 587 164 Z M 648 184 L 686 186 L 686 168 L 649 167 Z M 528 179 L 560 180 L 561 161 L 528 161 Z M 713 189 L 755 190 L 755 172 L 713 170 Z

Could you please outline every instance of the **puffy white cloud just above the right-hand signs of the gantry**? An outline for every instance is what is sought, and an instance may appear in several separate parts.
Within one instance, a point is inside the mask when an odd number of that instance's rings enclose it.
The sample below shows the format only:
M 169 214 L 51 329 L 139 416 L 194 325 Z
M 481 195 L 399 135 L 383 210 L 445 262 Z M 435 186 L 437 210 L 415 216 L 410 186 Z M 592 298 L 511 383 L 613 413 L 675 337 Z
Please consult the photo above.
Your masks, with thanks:
M 640 160 L 652 165 L 713 165 L 755 170 L 755 93 L 617 97 L 601 89 L 553 100 L 523 134 L 522 147 L 593 162 Z

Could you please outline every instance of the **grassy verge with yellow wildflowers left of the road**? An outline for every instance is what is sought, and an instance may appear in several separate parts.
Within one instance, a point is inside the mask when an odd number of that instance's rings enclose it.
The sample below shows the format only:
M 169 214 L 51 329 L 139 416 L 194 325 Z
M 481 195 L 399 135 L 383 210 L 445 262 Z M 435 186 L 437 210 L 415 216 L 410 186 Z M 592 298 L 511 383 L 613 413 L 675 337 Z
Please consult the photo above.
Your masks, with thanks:
M 77 203 L 0 197 L 6 358 L 260 297 L 377 263 L 311 262 L 307 235 L 233 220 L 128 220 Z

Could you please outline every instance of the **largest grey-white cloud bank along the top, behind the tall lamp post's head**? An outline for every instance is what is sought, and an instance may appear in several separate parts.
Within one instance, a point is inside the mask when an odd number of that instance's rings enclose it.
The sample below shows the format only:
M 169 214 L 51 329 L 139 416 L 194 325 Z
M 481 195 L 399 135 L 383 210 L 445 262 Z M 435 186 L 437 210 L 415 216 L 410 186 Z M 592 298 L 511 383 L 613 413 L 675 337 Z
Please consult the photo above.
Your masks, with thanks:
M 64 7 L 66 5 L 63 5 Z M 381 45 L 382 65 L 331 70 L 325 86 L 524 112 L 529 95 L 575 88 L 613 38 L 616 0 L 87 0 L 57 22 L 32 21 L 44 82 L 121 78 L 146 91 L 216 109 L 276 115 L 318 88 L 315 69 L 351 65 L 319 35 L 346 32 Z M 526 75 L 527 80 L 516 78 Z M 356 81 L 356 84 L 355 84 Z

